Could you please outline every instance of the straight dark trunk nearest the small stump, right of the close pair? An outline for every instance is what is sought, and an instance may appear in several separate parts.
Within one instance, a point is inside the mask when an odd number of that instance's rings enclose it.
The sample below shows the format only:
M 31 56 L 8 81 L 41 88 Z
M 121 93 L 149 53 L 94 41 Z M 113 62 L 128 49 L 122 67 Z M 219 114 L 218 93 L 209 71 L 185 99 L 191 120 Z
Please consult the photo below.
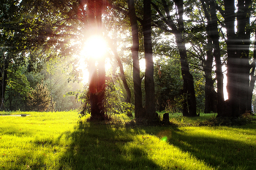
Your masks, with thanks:
M 143 36 L 145 48 L 145 93 L 146 93 L 146 119 L 157 120 L 154 96 L 154 62 L 151 40 L 151 1 L 144 0 Z

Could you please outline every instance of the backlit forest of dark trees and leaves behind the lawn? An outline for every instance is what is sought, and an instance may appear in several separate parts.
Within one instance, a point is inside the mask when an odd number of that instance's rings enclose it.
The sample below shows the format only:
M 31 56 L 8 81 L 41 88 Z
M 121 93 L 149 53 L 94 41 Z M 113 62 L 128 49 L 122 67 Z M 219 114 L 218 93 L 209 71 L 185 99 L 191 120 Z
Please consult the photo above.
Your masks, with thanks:
M 99 62 L 85 47 L 95 23 Z M 1 110 L 84 111 L 104 73 L 107 113 L 238 117 L 256 106 L 255 32 L 252 0 L 2 0 Z

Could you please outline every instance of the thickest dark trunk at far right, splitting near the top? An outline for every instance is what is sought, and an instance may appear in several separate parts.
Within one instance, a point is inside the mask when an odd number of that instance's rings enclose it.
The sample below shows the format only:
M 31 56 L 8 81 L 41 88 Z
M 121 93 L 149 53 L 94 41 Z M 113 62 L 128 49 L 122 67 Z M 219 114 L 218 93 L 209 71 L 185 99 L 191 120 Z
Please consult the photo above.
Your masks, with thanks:
M 225 26 L 227 29 L 227 109 L 222 116 L 238 117 L 251 110 L 249 101 L 249 4 L 238 1 L 237 32 L 235 31 L 235 3 L 225 0 Z

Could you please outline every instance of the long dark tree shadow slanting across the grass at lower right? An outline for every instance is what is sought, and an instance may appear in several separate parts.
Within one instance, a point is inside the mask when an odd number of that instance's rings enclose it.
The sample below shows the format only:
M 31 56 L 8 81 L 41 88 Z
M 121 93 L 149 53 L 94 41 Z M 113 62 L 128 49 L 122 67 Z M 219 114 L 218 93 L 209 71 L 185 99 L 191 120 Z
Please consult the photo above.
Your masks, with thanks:
M 148 134 L 154 131 L 148 128 L 144 129 Z M 174 128 L 166 129 L 171 134 L 168 140 L 169 144 L 178 147 L 183 152 L 189 152 L 197 160 L 203 161 L 215 169 L 255 169 L 255 144 L 252 145 L 224 137 L 203 136 L 203 134 L 190 135 L 185 131 L 177 131 Z M 243 128 L 239 127 L 238 129 Z M 154 131 L 153 133 L 161 134 L 161 131 Z M 234 155 L 236 159 L 234 159 Z M 241 161 L 240 158 L 246 161 Z

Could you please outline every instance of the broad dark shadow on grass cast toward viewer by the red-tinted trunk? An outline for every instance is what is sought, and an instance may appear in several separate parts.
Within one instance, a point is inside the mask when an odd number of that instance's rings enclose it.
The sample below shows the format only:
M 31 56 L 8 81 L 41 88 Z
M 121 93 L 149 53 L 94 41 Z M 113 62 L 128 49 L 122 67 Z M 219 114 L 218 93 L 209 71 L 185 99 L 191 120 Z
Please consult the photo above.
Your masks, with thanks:
M 59 161 L 59 169 L 160 169 L 139 148 L 125 152 L 125 145 L 139 131 L 79 123 L 71 134 L 64 134 L 72 142 Z

